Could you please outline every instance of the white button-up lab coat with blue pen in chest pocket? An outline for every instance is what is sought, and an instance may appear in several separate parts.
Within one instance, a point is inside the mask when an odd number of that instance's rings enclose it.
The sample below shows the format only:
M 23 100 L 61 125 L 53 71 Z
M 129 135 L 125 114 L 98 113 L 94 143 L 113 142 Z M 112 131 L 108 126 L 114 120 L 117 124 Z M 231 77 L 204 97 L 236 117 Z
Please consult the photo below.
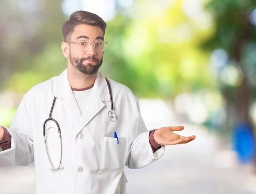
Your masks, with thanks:
M 14 165 L 35 161 L 36 194 L 125 194 L 124 166 L 142 168 L 163 155 L 165 146 L 152 152 L 137 98 L 128 87 L 108 80 L 116 122 L 108 117 L 110 96 L 101 73 L 83 114 L 68 82 L 67 69 L 23 96 L 11 127 L 6 127 L 12 135 L 12 148 L 0 152 L 0 156 Z M 43 136 L 54 96 L 52 118 L 60 126 L 63 142 L 64 169 L 57 171 L 50 170 Z M 56 128 L 53 121 L 47 123 L 47 144 L 54 166 L 60 157 Z

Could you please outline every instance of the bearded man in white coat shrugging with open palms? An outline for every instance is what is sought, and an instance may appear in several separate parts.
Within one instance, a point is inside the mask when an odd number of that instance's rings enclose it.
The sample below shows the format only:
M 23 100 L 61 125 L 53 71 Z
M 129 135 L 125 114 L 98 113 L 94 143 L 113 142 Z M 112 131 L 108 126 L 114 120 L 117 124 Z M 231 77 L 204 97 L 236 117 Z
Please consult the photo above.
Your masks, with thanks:
M 195 139 L 173 133 L 182 126 L 148 131 L 131 90 L 98 72 L 105 28 L 96 14 L 74 12 L 62 25 L 67 69 L 32 87 L 11 127 L 0 127 L 1 157 L 35 161 L 36 194 L 125 194 L 125 165 L 142 168 L 165 145 Z

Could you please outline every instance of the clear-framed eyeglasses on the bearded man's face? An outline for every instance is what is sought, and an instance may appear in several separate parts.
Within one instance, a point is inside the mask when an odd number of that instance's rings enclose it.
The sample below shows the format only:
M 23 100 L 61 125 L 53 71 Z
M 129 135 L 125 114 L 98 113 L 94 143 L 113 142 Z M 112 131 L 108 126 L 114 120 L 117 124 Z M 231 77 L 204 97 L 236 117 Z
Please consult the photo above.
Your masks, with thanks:
M 90 43 L 91 42 L 87 42 L 87 41 L 80 41 L 80 42 L 73 42 L 73 41 L 67 41 L 67 42 L 72 42 L 78 45 L 78 48 L 80 51 L 85 52 L 90 48 Z M 95 42 L 93 42 L 93 47 L 96 51 L 104 51 L 105 48 L 107 47 L 108 42 L 102 41 L 102 40 L 97 40 Z

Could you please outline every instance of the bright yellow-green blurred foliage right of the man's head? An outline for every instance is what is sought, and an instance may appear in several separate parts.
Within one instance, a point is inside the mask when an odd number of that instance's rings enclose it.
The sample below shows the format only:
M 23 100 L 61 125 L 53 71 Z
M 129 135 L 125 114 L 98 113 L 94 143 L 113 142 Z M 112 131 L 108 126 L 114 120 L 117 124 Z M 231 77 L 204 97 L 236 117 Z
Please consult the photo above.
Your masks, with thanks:
M 215 90 L 206 65 L 208 53 L 200 48 L 201 42 L 211 37 L 213 27 L 202 27 L 188 18 L 186 3 L 189 1 L 138 0 L 126 12 L 132 20 L 126 25 L 119 52 L 135 69 L 136 74 L 129 76 L 136 83 L 132 90 L 137 96 L 170 100 L 183 92 Z M 203 13 L 202 17 L 207 16 Z

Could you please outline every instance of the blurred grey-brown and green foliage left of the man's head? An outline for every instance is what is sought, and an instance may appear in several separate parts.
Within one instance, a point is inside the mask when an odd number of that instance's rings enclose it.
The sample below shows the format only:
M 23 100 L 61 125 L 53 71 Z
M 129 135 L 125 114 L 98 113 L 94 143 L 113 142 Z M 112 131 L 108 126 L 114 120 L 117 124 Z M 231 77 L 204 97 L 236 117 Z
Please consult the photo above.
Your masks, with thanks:
M 61 30 L 56 30 L 64 21 L 61 3 L 62 0 L 0 2 L 0 77 L 2 83 L 8 82 L 9 90 L 24 94 L 34 84 L 61 72 L 61 65 L 65 67 L 58 60 L 62 59 L 58 57 L 61 50 L 55 49 L 62 41 Z

